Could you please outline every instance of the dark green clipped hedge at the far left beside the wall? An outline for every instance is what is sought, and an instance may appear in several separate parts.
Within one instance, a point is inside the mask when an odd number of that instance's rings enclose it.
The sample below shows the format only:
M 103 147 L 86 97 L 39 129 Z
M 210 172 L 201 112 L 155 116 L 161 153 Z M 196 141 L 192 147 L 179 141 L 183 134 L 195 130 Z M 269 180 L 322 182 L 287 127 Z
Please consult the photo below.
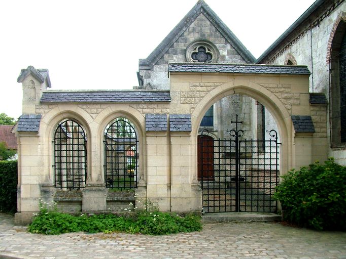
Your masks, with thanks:
M 17 161 L 0 161 L 0 211 L 17 211 Z

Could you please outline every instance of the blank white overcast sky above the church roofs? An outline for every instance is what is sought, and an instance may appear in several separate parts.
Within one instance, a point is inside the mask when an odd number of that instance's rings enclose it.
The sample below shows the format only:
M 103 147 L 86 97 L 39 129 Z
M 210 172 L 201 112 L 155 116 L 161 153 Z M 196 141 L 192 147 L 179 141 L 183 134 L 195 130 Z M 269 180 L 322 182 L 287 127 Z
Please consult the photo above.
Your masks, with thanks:
M 313 0 L 205 0 L 258 58 Z M 52 90 L 131 89 L 146 58 L 197 0 L 0 3 L 0 113 L 19 117 L 22 68 L 48 68 Z

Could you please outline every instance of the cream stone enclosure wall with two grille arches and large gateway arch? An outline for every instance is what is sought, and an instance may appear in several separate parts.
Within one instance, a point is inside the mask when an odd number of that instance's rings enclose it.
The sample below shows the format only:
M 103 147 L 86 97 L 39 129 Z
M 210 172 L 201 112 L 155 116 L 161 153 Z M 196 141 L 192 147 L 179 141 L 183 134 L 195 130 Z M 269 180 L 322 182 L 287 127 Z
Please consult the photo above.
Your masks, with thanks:
M 23 81 L 36 80 L 28 75 Z M 35 81 L 39 84 L 39 81 Z M 38 96 L 42 95 L 41 88 Z M 25 100 L 25 109 L 41 117 L 37 132 L 17 132 L 19 191 L 17 223 L 25 223 L 38 210 L 38 198 L 59 202 L 65 211 L 117 210 L 133 202 L 141 207 L 146 200 L 163 211 L 200 211 L 202 195 L 197 181 L 196 141 L 199 123 L 215 102 L 233 94 L 259 100 L 273 114 L 282 139 L 280 171 L 299 167 L 326 155 L 325 133 L 294 133 L 291 115 L 319 116 L 325 110 L 310 109 L 307 75 L 252 75 L 213 73 L 171 73 L 171 100 L 159 103 L 53 103 Z M 284 93 L 283 93 L 284 92 Z M 41 93 L 41 94 L 40 94 Z M 155 93 L 155 91 L 153 92 Z M 290 99 L 293 98 L 293 99 Z M 31 103 L 30 103 L 31 102 Z M 314 109 L 319 109 L 315 114 Z M 146 130 L 146 114 L 166 114 L 167 128 Z M 176 116 L 176 115 L 179 116 Z M 105 188 L 103 134 L 108 123 L 126 117 L 134 124 L 139 140 L 138 188 L 130 195 L 117 195 Z M 163 116 L 164 117 L 164 116 Z M 76 119 L 87 136 L 88 174 L 86 187 L 77 191 L 54 188 L 52 138 L 58 122 Z M 174 118 L 174 119 L 172 119 Z M 172 126 L 186 118 L 182 131 Z M 323 128 L 321 122 L 320 127 Z M 317 126 L 319 127 L 319 126 Z M 320 153 L 316 153 L 319 150 Z M 143 208 L 143 207 L 142 207 Z

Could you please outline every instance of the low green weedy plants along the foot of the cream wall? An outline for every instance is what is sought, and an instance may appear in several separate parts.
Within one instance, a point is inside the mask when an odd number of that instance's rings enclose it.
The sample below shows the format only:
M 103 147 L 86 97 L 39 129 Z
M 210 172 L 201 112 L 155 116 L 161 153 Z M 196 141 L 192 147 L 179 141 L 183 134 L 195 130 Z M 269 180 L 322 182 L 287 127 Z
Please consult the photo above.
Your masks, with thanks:
M 146 235 L 165 235 L 178 232 L 200 231 L 200 216 L 188 214 L 185 217 L 167 212 L 137 211 L 118 216 L 114 214 L 70 215 L 50 210 L 40 204 L 40 213 L 28 227 L 31 233 L 57 235 L 67 232 L 127 232 Z

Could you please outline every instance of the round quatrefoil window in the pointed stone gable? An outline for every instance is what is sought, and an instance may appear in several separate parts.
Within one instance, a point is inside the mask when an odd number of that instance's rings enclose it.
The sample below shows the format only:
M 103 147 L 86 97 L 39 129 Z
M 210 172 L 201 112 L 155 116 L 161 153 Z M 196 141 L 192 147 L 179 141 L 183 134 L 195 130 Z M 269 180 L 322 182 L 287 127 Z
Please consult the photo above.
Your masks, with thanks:
M 186 60 L 195 63 L 215 63 L 219 52 L 212 42 L 198 39 L 192 41 L 186 49 Z

